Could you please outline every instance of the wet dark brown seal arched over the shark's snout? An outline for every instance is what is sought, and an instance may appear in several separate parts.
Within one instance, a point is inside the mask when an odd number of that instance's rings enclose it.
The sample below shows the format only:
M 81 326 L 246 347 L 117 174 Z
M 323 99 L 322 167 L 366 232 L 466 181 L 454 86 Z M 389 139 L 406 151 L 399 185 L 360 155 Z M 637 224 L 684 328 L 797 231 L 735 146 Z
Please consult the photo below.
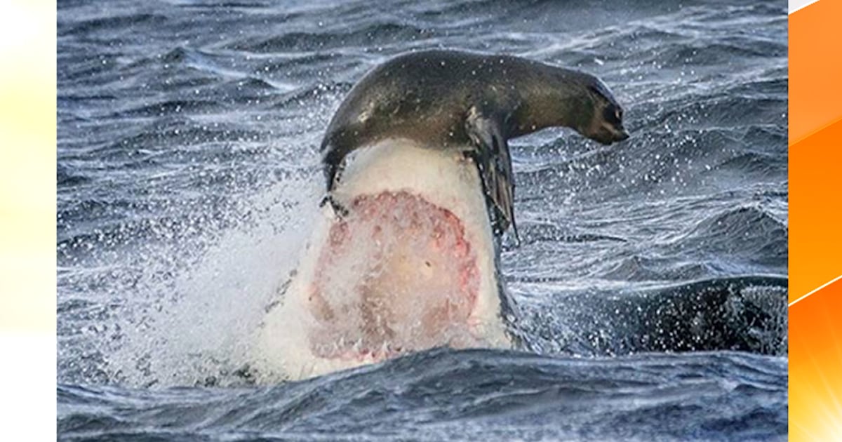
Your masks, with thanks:
M 333 115 L 321 147 L 328 197 L 350 152 L 408 138 L 472 157 L 494 232 L 511 225 L 517 236 L 509 139 L 562 126 L 610 145 L 629 136 L 622 119 L 605 83 L 584 72 L 516 56 L 411 52 L 365 75 Z

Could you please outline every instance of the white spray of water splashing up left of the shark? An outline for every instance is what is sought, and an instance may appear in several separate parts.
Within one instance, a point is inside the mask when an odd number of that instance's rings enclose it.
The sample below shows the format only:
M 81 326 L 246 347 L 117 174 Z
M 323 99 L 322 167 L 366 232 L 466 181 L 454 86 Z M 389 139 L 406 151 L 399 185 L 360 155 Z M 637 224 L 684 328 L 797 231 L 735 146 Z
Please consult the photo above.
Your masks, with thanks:
M 317 188 L 314 177 L 285 178 L 244 200 L 249 216 L 233 226 L 131 258 L 144 269 L 139 280 L 115 288 L 112 327 L 119 333 L 106 350 L 111 381 L 248 381 L 253 333 L 295 269 L 317 215 Z

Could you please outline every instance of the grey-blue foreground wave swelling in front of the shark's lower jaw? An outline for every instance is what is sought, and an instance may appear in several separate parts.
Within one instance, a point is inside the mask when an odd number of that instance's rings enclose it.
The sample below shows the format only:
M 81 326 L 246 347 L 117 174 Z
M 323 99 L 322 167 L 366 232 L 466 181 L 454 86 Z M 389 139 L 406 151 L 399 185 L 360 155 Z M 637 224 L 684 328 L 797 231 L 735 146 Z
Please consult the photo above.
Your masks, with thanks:
M 68 439 L 786 439 L 786 365 L 748 354 L 434 349 L 256 390 L 59 385 L 56 394 Z

